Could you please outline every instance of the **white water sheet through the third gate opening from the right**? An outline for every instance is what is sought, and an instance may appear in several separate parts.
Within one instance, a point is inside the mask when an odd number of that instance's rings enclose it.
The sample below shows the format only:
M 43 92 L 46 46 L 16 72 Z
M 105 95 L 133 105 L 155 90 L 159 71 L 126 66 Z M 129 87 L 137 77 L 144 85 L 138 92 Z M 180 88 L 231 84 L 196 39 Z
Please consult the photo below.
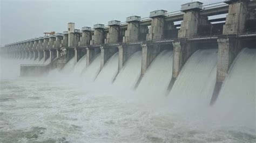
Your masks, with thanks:
M 147 68 L 140 81 L 137 93 L 147 98 L 164 97 L 172 78 L 172 51 L 161 52 Z

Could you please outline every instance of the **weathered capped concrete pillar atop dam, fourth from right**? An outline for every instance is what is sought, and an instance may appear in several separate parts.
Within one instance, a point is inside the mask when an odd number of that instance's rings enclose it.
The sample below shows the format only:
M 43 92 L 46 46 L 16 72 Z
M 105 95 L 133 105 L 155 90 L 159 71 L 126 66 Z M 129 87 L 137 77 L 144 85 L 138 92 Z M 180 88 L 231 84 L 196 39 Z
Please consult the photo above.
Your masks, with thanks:
M 127 30 L 125 31 L 125 35 L 123 37 L 123 42 L 136 42 L 139 38 L 139 16 L 130 16 L 126 18 Z

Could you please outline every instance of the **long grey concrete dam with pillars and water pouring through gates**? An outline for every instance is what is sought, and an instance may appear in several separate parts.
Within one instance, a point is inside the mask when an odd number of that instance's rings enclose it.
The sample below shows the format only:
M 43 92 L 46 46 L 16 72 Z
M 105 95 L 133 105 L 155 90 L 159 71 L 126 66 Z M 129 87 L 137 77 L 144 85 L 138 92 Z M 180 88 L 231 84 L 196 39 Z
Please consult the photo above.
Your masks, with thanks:
M 58 69 L 89 82 L 146 91 L 149 98 L 161 92 L 213 105 L 239 53 L 255 53 L 255 8 L 254 1 L 193 2 L 181 12 L 152 11 L 150 19 L 131 16 L 125 24 L 112 20 L 93 30 L 69 23 L 63 33 L 5 45 L 1 56 L 31 60 L 34 65 L 21 65 L 22 76 Z M 208 19 L 225 13 L 226 18 Z

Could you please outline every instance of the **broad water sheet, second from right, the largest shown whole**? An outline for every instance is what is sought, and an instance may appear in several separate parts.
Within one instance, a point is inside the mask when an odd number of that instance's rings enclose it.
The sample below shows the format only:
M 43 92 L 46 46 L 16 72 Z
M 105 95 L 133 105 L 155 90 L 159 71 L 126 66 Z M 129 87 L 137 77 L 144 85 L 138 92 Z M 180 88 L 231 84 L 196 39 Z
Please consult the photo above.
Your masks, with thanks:
M 185 63 L 169 94 L 173 105 L 208 106 L 217 74 L 218 49 L 199 49 Z

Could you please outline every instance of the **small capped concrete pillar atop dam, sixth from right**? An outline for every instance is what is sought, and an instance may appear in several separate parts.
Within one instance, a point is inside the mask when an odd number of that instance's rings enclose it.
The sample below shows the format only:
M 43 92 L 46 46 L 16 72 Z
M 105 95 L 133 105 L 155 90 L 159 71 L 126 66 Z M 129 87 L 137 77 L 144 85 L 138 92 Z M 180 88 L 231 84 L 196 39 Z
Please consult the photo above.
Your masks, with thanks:
M 93 26 L 94 33 L 90 45 L 101 45 L 104 43 L 104 25 L 96 24 Z

